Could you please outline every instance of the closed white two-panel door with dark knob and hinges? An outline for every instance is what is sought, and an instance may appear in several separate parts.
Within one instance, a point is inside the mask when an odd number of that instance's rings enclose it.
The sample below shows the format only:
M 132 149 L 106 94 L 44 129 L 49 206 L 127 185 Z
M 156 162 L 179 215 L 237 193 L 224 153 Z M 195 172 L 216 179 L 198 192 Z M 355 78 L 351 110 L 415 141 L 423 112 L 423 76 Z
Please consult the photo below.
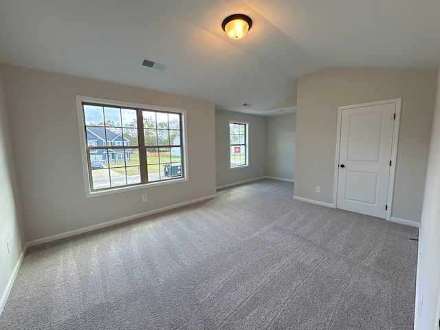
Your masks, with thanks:
M 342 107 L 336 207 L 386 218 L 396 103 Z

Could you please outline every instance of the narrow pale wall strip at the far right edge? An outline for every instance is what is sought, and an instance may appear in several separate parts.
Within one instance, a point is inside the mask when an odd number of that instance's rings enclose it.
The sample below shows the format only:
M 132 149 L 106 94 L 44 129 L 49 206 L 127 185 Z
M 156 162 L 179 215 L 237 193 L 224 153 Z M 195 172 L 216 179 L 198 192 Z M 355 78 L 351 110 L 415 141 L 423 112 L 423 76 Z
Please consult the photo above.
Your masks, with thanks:
M 440 70 L 440 67 L 439 67 Z M 438 329 L 440 318 L 440 75 L 419 234 L 415 330 Z M 423 294 L 423 304 L 421 303 Z M 419 314 L 419 308 L 421 313 Z M 420 317 L 419 317 L 420 315 Z

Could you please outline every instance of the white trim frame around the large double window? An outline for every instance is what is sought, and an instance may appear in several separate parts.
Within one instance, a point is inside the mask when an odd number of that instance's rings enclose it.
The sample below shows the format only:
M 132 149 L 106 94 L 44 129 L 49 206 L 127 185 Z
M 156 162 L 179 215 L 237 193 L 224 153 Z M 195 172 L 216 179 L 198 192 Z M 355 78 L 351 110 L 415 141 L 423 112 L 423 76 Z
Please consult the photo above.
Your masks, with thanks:
M 189 170 L 188 170 L 188 147 L 186 145 L 187 141 L 187 133 L 186 133 L 186 110 L 185 109 L 177 109 L 170 107 L 159 107 L 151 104 L 140 104 L 133 102 L 123 102 L 117 100 L 107 100 L 104 98 L 94 98 L 89 96 L 80 96 L 76 95 L 76 115 L 78 119 L 78 133 L 79 133 L 79 141 L 80 141 L 80 151 L 81 151 L 81 163 L 83 165 L 83 180 L 85 186 L 85 196 L 87 198 L 90 197 L 98 197 L 104 195 L 112 195 L 120 192 L 132 191 L 132 190 L 140 190 L 145 188 L 153 188 L 157 186 L 166 186 L 168 184 L 179 184 L 181 182 L 189 181 Z M 115 107 L 130 107 L 130 108 L 138 108 L 145 110 L 153 110 L 153 111 L 166 111 L 166 112 L 175 112 L 181 113 L 181 145 L 183 146 L 183 159 L 182 164 L 184 165 L 184 173 L 182 173 L 182 177 L 178 179 L 172 180 L 164 180 L 164 181 L 153 181 L 148 182 L 146 184 L 137 184 L 135 186 L 122 186 L 115 187 L 107 190 L 99 190 L 92 191 L 90 186 L 90 177 L 89 177 L 89 164 L 87 164 L 87 137 L 85 135 L 85 118 L 83 112 L 83 102 L 91 102 L 91 103 L 100 103 L 102 105 L 113 105 Z

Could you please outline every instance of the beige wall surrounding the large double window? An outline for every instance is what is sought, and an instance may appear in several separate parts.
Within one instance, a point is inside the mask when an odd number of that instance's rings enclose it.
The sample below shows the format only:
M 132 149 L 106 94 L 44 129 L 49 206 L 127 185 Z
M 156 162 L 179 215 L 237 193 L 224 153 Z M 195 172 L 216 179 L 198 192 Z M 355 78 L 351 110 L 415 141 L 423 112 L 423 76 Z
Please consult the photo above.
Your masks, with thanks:
M 216 193 L 212 102 L 11 65 L 1 69 L 28 241 Z M 76 94 L 186 109 L 189 181 L 86 198 Z

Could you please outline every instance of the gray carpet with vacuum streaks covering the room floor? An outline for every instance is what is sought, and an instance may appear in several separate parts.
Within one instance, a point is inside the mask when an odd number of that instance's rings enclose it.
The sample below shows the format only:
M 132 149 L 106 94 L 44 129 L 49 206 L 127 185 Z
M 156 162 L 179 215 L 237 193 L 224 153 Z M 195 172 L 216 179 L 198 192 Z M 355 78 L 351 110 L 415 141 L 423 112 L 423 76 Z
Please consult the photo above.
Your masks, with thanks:
M 412 329 L 417 228 L 261 180 L 28 250 L 0 329 Z

